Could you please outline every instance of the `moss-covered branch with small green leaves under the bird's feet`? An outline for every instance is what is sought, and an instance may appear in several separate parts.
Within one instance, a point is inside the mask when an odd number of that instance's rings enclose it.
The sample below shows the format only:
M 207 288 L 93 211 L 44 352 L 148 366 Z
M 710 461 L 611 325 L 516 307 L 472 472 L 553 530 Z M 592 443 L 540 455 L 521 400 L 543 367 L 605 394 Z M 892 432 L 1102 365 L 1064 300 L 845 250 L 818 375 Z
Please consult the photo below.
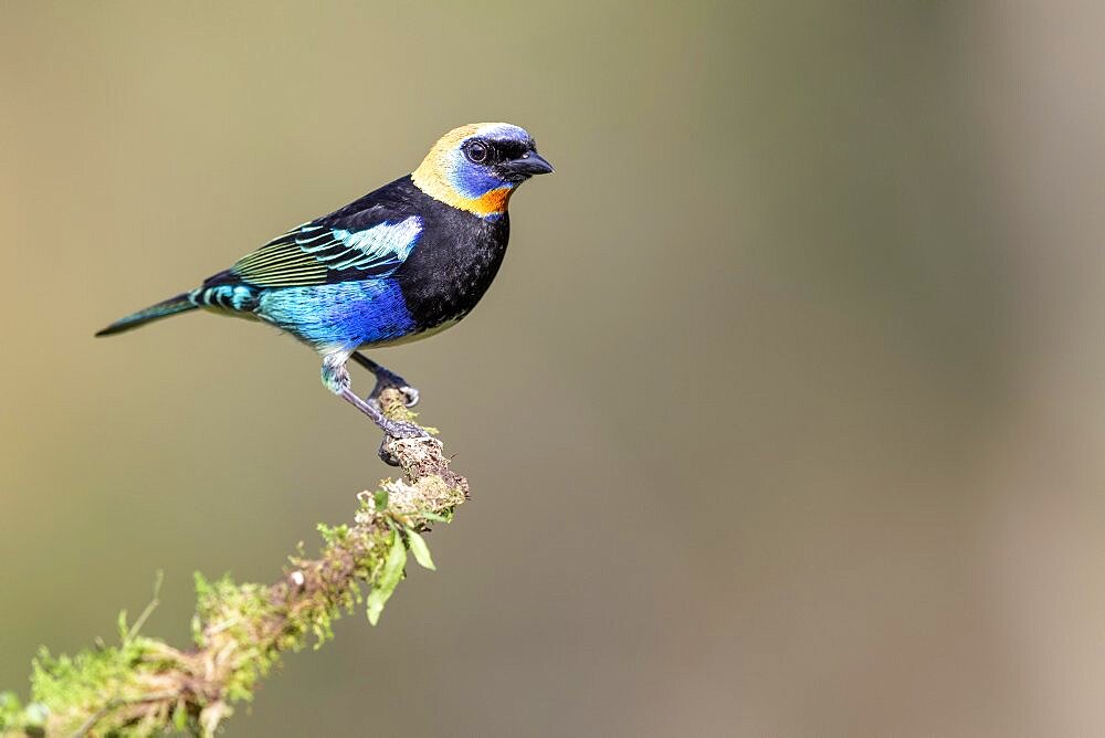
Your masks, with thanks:
M 412 417 L 393 389 L 380 394 L 380 403 L 393 419 Z M 469 493 L 438 440 L 388 439 L 388 450 L 402 478 L 360 493 L 351 524 L 320 525 L 318 558 L 299 551 L 269 586 L 235 584 L 229 577 L 209 582 L 197 574 L 190 650 L 138 633 L 149 608 L 130 626 L 120 614 L 117 646 L 74 656 L 43 650 L 33 664 L 29 703 L 0 694 L 0 734 L 145 736 L 176 729 L 210 736 L 235 704 L 252 698 L 283 653 L 303 649 L 312 636 L 316 647 L 329 640 L 330 623 L 343 612 L 364 603 L 375 624 L 403 577 L 408 550 L 433 568 L 420 533 L 448 523 Z M 366 595 L 361 583 L 369 588 Z

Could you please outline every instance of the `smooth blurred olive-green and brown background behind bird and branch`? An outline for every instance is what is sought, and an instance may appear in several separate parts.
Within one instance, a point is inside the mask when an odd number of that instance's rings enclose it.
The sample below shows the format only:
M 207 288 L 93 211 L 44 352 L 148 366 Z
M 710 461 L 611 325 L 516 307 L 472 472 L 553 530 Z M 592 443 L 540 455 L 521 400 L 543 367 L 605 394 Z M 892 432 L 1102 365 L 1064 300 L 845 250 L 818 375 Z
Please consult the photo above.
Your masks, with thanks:
M 227 734 L 1105 731 L 1103 22 L 0 0 L 0 686 L 390 473 L 271 329 L 92 334 L 508 120 L 497 282 L 376 354 L 473 502 Z

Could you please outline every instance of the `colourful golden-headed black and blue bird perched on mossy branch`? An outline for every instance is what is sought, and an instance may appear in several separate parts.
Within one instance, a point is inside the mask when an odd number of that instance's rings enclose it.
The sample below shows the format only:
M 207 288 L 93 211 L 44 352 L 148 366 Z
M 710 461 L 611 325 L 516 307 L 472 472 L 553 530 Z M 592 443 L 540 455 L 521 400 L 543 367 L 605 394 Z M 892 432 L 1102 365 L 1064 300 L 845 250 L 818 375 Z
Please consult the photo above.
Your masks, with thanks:
M 418 390 L 361 351 L 427 338 L 471 313 L 503 263 L 511 197 L 526 180 L 552 171 L 519 126 L 454 128 L 411 173 L 291 229 L 198 287 L 119 318 L 96 336 L 197 309 L 266 323 L 313 348 L 323 384 L 387 435 L 425 436 L 414 423 L 387 418 L 375 400 L 381 387 L 392 386 L 413 405 Z M 364 400 L 351 388 L 350 359 L 376 377 Z

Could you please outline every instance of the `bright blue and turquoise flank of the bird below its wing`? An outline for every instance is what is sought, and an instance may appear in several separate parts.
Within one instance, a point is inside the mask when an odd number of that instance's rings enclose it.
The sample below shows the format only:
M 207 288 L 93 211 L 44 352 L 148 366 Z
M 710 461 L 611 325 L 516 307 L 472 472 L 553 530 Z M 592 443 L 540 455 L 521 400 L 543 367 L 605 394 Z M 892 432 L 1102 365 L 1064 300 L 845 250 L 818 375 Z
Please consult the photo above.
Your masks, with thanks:
M 356 348 L 415 330 L 391 278 L 269 289 L 256 315 L 314 346 Z

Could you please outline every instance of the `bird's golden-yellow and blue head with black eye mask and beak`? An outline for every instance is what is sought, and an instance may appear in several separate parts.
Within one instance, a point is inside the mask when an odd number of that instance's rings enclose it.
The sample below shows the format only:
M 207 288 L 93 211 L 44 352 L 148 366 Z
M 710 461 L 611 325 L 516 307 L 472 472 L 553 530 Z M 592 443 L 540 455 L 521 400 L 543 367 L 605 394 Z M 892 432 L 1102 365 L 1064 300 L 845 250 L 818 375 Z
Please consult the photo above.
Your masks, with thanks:
M 514 190 L 534 175 L 552 171 L 524 128 L 474 123 L 442 136 L 411 175 L 430 197 L 480 218 L 506 212 Z

